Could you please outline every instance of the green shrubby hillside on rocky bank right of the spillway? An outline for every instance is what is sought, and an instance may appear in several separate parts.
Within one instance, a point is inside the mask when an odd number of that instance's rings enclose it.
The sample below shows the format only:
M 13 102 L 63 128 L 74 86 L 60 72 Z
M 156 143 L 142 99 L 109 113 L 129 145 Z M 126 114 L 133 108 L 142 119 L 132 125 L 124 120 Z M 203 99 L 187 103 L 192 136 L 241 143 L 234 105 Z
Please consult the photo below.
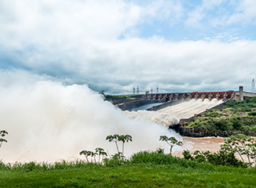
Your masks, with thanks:
M 224 107 L 210 109 L 188 126 L 203 128 L 207 136 L 256 135 L 256 97 L 229 101 Z

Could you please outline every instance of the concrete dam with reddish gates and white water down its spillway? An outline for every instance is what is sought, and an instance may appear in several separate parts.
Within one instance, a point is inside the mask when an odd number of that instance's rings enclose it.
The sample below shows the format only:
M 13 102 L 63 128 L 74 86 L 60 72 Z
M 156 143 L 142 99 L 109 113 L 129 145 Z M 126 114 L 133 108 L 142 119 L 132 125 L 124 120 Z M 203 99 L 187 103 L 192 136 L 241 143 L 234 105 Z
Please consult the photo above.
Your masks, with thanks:
M 131 118 L 144 119 L 159 123 L 169 128 L 175 128 L 181 136 L 204 136 L 197 128 L 187 128 L 186 125 L 195 116 L 210 110 L 223 107 L 230 100 L 241 101 L 247 97 L 256 96 L 254 92 L 244 92 L 243 86 L 238 91 L 220 92 L 173 92 L 145 93 L 129 102 L 116 104 L 119 109 Z M 139 107 L 147 107 L 140 110 Z M 139 109 L 134 112 L 134 109 Z M 170 117 L 167 117 L 167 114 Z M 164 120 L 165 119 L 165 120 Z M 166 120 L 168 119 L 168 120 Z

